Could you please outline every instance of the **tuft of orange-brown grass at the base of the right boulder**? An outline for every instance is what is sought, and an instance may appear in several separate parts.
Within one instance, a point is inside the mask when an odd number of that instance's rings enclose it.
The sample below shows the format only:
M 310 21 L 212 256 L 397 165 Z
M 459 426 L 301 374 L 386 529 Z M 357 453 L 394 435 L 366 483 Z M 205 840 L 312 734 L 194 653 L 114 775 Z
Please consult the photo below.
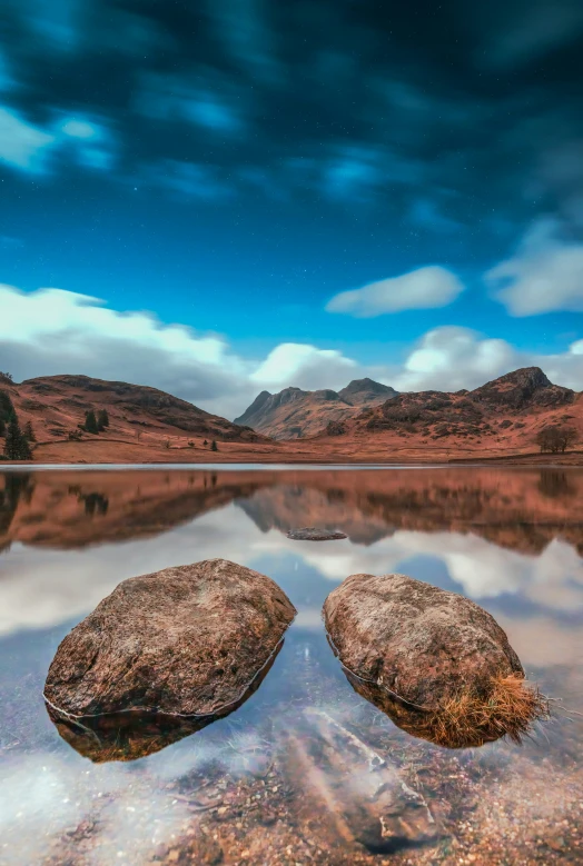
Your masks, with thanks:
M 533 724 L 549 717 L 549 700 L 517 674 L 498 676 L 487 697 L 463 689 L 419 719 L 419 736 L 439 746 L 482 746 L 501 737 L 522 743 Z M 422 733 L 423 729 L 423 733 Z

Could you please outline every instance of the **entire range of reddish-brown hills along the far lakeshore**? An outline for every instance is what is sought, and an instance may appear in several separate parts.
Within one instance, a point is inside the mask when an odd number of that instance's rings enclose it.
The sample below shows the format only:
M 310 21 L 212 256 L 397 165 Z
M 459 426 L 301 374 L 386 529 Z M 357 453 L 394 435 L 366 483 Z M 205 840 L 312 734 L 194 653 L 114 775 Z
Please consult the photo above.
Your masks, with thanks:
M 370 379 L 340 391 L 263 391 L 236 421 L 156 388 L 87 376 L 21 384 L 3 377 L 0 391 L 21 426 L 30 421 L 34 460 L 43 462 L 532 461 L 545 427 L 570 427 L 583 441 L 582 394 L 553 385 L 538 367 L 471 391 L 398 394 Z M 80 429 L 90 409 L 109 415 L 99 435 Z M 216 457 L 208 452 L 213 440 Z

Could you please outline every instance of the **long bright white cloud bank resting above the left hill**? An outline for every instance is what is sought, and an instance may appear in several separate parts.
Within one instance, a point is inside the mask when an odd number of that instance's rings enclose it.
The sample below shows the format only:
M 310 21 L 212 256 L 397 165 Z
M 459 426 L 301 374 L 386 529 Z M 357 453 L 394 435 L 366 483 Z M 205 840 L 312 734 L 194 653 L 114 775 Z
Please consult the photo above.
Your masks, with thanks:
M 62 289 L 21 292 L 0 285 L 0 369 L 17 380 L 63 372 L 123 378 L 236 417 L 264 388 L 343 387 L 365 375 L 338 351 L 283 344 L 245 359 L 214 334 L 162 325 L 151 313 L 121 313 Z

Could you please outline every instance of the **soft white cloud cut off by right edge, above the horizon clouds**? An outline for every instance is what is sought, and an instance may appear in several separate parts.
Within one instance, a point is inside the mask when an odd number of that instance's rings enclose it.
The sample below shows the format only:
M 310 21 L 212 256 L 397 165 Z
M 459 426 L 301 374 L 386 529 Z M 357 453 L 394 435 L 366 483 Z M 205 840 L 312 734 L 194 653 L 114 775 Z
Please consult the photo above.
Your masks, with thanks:
M 583 311 L 583 243 L 560 238 L 554 220 L 536 222 L 516 253 L 486 273 L 512 316 Z

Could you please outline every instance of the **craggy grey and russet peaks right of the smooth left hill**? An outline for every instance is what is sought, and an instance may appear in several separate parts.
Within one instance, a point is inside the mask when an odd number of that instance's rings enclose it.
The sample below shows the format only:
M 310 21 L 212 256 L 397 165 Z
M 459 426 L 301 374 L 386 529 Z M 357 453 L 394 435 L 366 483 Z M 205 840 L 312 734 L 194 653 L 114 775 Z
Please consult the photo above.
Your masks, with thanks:
M 576 396 L 553 385 L 538 367 L 514 370 L 473 391 L 398 394 L 372 379 L 357 379 L 338 392 L 261 391 L 235 422 L 275 439 L 391 432 L 425 442 L 451 437 L 472 441 L 530 429 L 541 412 L 571 406 Z M 555 420 L 570 419 L 565 415 Z

